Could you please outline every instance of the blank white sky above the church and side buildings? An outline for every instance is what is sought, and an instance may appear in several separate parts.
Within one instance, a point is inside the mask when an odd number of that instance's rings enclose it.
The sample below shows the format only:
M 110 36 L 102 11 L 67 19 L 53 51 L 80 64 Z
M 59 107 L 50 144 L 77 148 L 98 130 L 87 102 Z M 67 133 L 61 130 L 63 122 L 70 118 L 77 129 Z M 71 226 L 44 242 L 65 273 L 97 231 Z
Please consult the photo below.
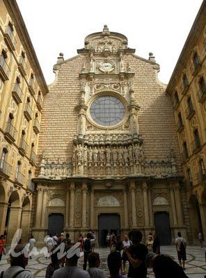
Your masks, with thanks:
M 110 31 L 128 38 L 136 55 L 153 52 L 168 83 L 202 0 L 17 0 L 47 83 L 59 52 L 77 55 L 86 35 Z

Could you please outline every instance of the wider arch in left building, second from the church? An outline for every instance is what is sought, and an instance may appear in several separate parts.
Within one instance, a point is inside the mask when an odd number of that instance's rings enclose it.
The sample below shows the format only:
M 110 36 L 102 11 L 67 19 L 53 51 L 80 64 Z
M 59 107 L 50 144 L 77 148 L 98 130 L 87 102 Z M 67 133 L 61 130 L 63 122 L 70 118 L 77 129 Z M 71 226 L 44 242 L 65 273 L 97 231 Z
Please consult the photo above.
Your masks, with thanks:
M 6 229 L 8 231 L 7 243 L 11 243 L 17 229 L 21 226 L 22 208 L 20 208 L 19 194 L 14 191 L 8 201 L 6 215 Z

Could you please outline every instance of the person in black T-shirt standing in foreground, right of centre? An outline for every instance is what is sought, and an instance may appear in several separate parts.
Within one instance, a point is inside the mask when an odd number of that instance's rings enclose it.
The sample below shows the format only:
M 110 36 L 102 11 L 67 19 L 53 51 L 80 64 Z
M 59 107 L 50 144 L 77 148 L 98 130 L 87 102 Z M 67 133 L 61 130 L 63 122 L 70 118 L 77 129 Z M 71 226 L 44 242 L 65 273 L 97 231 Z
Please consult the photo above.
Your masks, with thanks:
M 130 278 L 147 278 L 147 268 L 145 258 L 148 254 L 148 248 L 141 244 L 143 235 L 139 230 L 133 230 L 131 233 L 132 246 L 125 248 L 125 253 L 129 260 L 129 272 L 127 277 Z

